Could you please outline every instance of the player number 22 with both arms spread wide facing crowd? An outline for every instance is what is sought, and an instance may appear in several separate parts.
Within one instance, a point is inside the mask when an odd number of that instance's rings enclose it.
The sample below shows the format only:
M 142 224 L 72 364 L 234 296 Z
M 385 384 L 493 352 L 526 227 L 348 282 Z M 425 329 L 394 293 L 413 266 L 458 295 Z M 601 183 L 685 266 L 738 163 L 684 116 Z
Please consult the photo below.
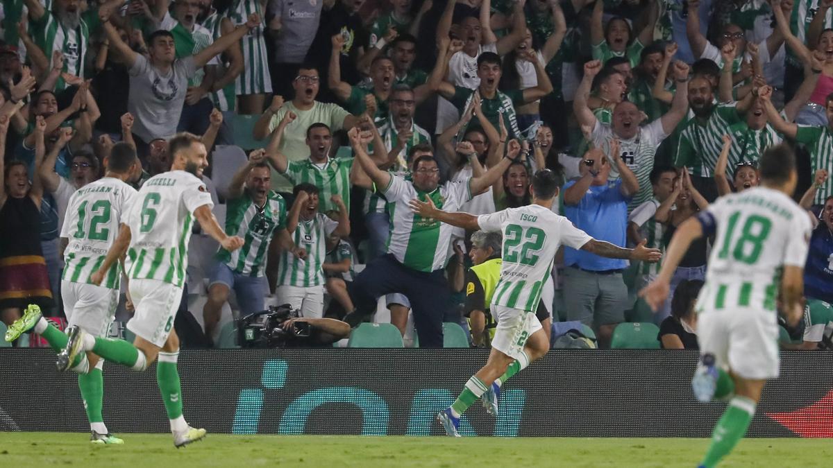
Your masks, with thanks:
M 552 271 L 556 251 L 562 244 L 590 251 L 600 256 L 641 261 L 659 261 L 660 251 L 646 248 L 643 241 L 635 249 L 624 249 L 606 241 L 596 241 L 566 218 L 550 209 L 558 196 L 563 181 L 555 172 L 544 169 L 532 178 L 532 204 L 507 208 L 501 212 L 479 217 L 463 212 L 443 212 L 436 209 L 431 199 L 412 200 L 410 206 L 423 218 L 435 219 L 466 230 L 501 232 L 503 234 L 503 262 L 501 279 L 491 298 L 491 313 L 497 320 L 491 353 L 486 366 L 466 382 L 460 396 L 451 407 L 436 417 L 449 436 L 460 436 L 460 417 L 476 399 L 484 398 L 496 406 L 500 386 L 517 371 L 529 366 L 546 354 L 549 341 L 535 316 L 541 298 L 541 288 Z

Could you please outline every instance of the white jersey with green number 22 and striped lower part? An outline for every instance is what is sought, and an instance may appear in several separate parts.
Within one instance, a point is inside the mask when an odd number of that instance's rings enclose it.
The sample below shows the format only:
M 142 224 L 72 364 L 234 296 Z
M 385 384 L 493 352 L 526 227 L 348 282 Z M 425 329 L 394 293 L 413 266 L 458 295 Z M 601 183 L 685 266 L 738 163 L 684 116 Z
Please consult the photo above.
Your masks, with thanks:
M 481 215 L 477 224 L 503 235 L 501 280 L 491 296 L 491 310 L 504 306 L 534 312 L 558 247 L 579 249 L 592 240 L 566 217 L 540 205 Z

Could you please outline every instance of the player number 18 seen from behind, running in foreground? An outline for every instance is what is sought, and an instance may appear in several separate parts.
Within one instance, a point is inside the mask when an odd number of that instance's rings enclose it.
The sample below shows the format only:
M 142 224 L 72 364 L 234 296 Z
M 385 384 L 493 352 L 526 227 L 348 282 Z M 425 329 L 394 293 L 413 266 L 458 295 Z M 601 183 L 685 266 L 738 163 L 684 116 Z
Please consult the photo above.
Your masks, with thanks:
M 697 400 L 728 401 L 701 466 L 716 466 L 746 434 L 761 390 L 778 376 L 781 298 L 787 323 L 803 312 L 803 271 L 811 219 L 793 202 L 796 157 L 770 147 L 758 162 L 761 186 L 727 195 L 677 228 L 656 281 L 640 295 L 654 310 L 668 296 L 671 275 L 691 245 L 716 234 L 706 284 L 697 297 L 701 361 L 691 387 Z

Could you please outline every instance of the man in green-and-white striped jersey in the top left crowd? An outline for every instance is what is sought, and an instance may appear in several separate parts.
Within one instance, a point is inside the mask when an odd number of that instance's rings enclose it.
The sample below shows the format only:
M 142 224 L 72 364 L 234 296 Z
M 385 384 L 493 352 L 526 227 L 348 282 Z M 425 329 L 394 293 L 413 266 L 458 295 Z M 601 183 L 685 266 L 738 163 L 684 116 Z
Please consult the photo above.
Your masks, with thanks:
M 101 26 L 99 17 L 109 17 L 120 7 L 123 0 L 108 0 L 101 7 L 89 7 L 82 12 L 80 0 L 24 0 L 29 10 L 32 37 L 37 46 L 52 60 L 52 52 L 63 53 L 63 71 L 76 77 L 85 77 L 87 50 L 90 34 Z M 93 5 L 96 5 L 93 2 Z M 63 78 L 58 78 L 55 89 L 67 87 Z

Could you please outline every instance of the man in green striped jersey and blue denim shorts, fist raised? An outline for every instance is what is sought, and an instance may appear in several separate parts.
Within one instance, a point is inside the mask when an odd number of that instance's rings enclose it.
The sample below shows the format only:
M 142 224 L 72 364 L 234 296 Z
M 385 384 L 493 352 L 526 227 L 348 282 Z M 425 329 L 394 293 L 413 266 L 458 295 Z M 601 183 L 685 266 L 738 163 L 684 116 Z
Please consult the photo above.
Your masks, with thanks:
M 235 251 L 222 247 L 217 251 L 217 266 L 208 283 L 208 301 L 202 309 L 209 339 L 214 336 L 222 305 L 228 300 L 232 288 L 237 296 L 240 316 L 263 310 L 268 291 L 265 276 L 267 251 L 273 235 L 279 245 L 292 255 L 301 258 L 306 255 L 303 249 L 292 243 L 287 233 L 287 202 L 269 189 L 271 172 L 265 151 L 256 150 L 228 185 L 226 234 L 241 236 L 243 246 Z

